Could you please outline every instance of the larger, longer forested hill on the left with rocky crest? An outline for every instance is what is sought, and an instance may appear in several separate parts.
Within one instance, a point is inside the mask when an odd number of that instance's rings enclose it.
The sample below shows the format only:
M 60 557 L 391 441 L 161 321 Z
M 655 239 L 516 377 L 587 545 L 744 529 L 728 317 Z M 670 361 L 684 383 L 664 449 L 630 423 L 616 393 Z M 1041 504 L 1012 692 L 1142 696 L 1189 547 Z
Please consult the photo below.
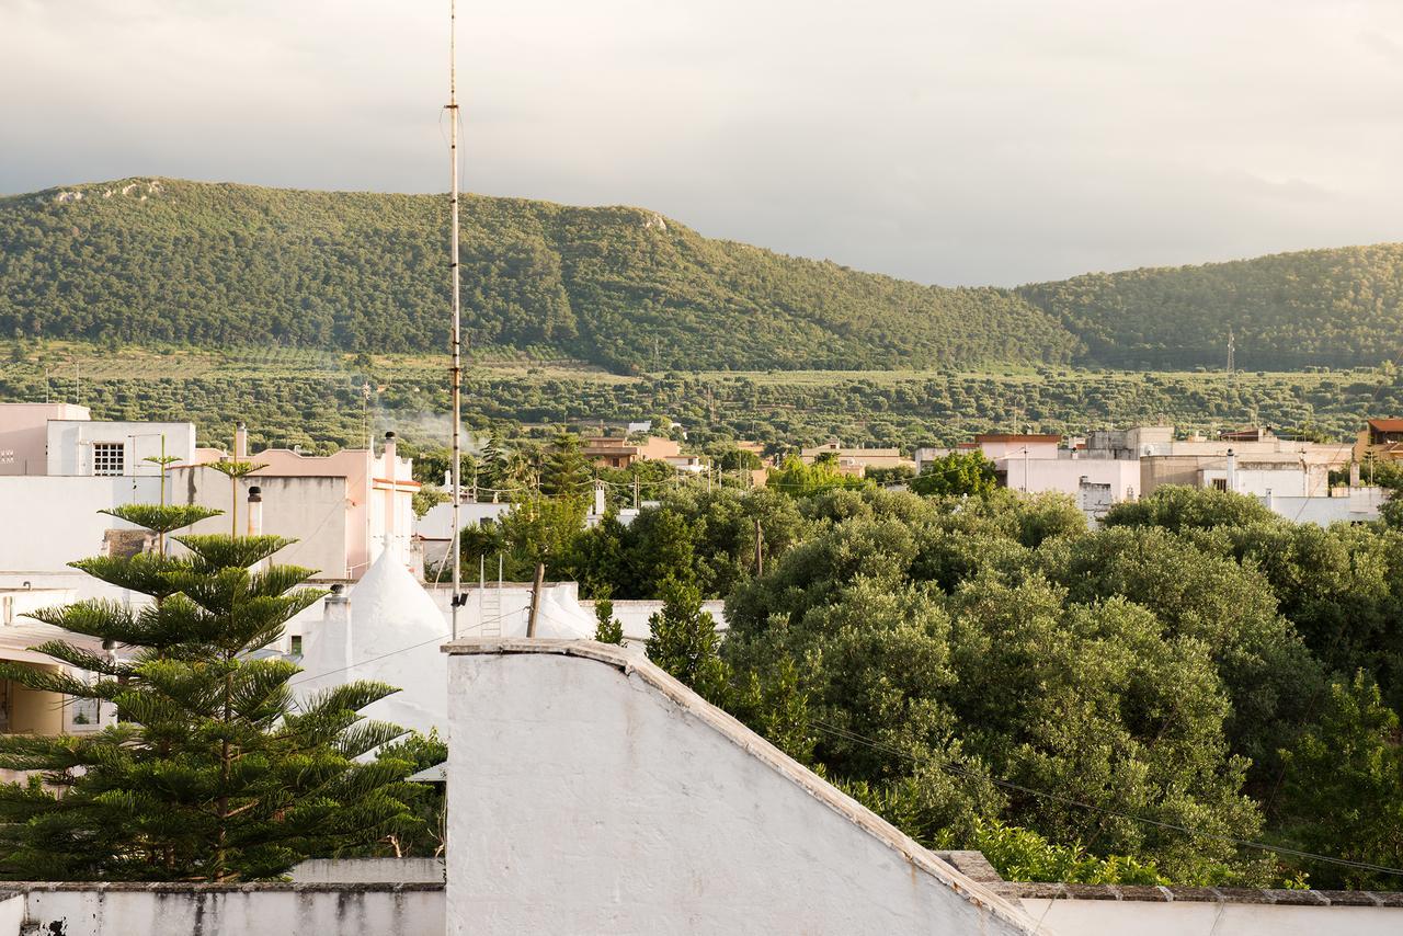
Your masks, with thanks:
M 81 195 L 81 198 L 79 198 Z M 0 199 L 0 337 L 448 347 L 443 196 L 123 180 Z M 464 328 L 616 370 L 1066 362 L 1000 289 L 709 240 L 637 208 L 467 196 Z

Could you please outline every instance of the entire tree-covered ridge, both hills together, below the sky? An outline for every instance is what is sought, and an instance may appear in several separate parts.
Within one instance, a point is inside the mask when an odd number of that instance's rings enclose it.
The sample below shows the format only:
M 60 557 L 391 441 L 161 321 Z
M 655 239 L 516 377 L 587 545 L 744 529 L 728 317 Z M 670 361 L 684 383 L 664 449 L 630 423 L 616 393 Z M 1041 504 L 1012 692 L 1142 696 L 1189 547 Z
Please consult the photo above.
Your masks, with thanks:
M 919 285 L 707 239 L 643 208 L 463 196 L 474 348 L 610 370 L 1376 363 L 1403 247 Z M 448 199 L 128 178 L 0 198 L 0 337 L 448 345 Z

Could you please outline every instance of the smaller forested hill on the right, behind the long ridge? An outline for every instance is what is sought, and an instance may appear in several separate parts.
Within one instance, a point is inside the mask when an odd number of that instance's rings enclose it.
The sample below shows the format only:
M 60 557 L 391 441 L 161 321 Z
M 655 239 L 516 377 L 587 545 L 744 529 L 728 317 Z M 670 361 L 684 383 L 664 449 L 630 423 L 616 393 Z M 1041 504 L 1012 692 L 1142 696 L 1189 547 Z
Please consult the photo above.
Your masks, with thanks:
M 1296 370 L 1403 352 L 1403 244 L 1275 254 L 1202 267 L 1090 274 L 1023 286 L 1097 363 Z

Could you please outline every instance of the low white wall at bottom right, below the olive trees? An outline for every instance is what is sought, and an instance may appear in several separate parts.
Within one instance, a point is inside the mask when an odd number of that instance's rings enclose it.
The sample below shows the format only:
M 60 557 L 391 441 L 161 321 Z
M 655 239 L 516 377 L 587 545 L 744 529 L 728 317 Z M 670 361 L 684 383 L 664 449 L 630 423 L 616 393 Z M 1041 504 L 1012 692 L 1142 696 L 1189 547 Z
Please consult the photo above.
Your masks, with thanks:
M 1023 908 L 1073 936 L 1397 936 L 1403 907 L 1284 907 L 1230 901 L 1027 900 Z

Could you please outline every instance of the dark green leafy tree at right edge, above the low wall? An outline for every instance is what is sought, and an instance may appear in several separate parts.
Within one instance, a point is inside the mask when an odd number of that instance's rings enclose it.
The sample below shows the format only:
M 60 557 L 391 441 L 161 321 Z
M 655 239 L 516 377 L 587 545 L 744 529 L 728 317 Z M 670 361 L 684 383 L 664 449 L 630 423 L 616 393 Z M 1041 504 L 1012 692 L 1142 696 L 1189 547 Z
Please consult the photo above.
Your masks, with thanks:
M 1308 852 L 1403 867 L 1403 747 L 1399 716 L 1362 672 L 1337 678 L 1319 721 L 1285 759 L 1281 838 Z M 1395 876 L 1306 860 L 1317 887 L 1392 890 Z

